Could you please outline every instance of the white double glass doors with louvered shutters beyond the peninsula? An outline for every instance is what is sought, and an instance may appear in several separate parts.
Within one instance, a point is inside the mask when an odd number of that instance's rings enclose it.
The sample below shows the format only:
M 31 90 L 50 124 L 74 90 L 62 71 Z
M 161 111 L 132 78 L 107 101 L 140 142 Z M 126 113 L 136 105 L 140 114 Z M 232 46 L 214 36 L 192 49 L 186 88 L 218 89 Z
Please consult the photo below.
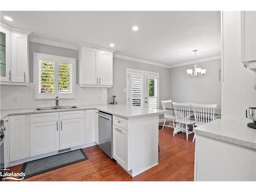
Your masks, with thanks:
M 158 108 L 158 73 L 128 71 L 127 104 Z

